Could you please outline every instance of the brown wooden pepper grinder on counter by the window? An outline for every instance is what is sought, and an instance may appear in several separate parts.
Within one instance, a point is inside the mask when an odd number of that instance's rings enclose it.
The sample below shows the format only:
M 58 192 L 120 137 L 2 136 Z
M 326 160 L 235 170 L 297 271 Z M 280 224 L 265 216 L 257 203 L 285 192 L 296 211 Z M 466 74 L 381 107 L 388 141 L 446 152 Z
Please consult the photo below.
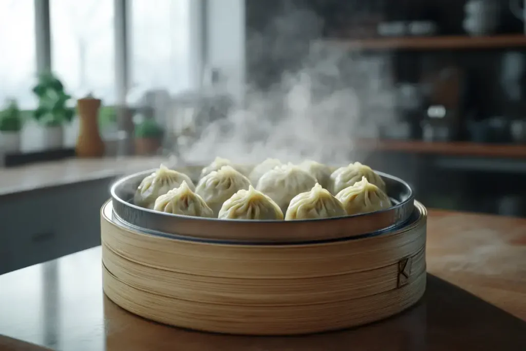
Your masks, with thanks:
M 100 99 L 92 95 L 77 100 L 80 128 L 75 152 L 78 157 L 102 157 L 104 155 L 104 142 L 98 128 L 100 105 Z

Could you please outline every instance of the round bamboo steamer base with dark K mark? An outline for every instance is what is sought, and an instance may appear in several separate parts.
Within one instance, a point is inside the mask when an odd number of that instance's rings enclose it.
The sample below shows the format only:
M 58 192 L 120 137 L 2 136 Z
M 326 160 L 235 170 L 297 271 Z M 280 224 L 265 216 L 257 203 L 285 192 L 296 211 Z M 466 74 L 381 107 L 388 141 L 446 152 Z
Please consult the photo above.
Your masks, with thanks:
M 154 235 L 101 212 L 104 292 L 131 313 L 228 334 L 354 327 L 415 304 L 426 289 L 427 211 L 380 235 L 315 243 L 221 243 Z M 330 232 L 330 223 L 327 223 Z

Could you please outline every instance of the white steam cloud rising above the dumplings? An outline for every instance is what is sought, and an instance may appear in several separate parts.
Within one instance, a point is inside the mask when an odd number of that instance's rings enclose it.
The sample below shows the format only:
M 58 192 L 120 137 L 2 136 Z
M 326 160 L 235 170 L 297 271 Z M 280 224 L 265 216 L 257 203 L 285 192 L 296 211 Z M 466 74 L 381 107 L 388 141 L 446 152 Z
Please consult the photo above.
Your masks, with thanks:
M 389 72 L 374 66 L 374 57 L 368 61 L 351 57 L 343 48 L 311 45 L 320 37 L 319 18 L 304 9 L 288 9 L 262 33 L 251 35 L 250 56 L 265 56 L 270 63 L 294 58 L 299 65 L 286 68 L 267 89 L 247 86 L 244 106 L 206 126 L 182 152 L 184 158 L 199 163 L 215 156 L 242 163 L 267 157 L 327 164 L 355 161 L 358 126 L 363 125 L 360 111 L 376 104 L 392 113 L 392 99 L 388 96 L 386 104 L 382 95 Z M 378 125 L 373 117 L 368 117 L 370 123 Z

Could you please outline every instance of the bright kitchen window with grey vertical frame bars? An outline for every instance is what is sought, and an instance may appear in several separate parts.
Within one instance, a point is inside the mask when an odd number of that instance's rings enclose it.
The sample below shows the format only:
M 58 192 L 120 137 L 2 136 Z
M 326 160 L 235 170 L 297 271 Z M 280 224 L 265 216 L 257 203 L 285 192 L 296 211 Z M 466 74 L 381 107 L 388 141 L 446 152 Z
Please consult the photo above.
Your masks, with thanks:
M 15 98 L 31 120 L 37 74 L 52 71 L 72 104 L 88 93 L 103 100 L 104 134 L 116 123 L 113 106 L 133 92 L 197 88 L 205 2 L 0 0 L 0 104 Z M 31 139 L 28 132 L 23 139 Z

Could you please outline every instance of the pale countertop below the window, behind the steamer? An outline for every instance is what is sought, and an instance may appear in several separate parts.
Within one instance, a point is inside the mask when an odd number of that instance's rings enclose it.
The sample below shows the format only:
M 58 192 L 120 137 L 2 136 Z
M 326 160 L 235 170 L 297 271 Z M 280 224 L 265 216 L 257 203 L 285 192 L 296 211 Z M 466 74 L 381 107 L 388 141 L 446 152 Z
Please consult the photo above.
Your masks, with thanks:
M 0 168 L 0 195 L 121 176 L 159 167 L 167 158 L 70 158 L 63 161 Z

